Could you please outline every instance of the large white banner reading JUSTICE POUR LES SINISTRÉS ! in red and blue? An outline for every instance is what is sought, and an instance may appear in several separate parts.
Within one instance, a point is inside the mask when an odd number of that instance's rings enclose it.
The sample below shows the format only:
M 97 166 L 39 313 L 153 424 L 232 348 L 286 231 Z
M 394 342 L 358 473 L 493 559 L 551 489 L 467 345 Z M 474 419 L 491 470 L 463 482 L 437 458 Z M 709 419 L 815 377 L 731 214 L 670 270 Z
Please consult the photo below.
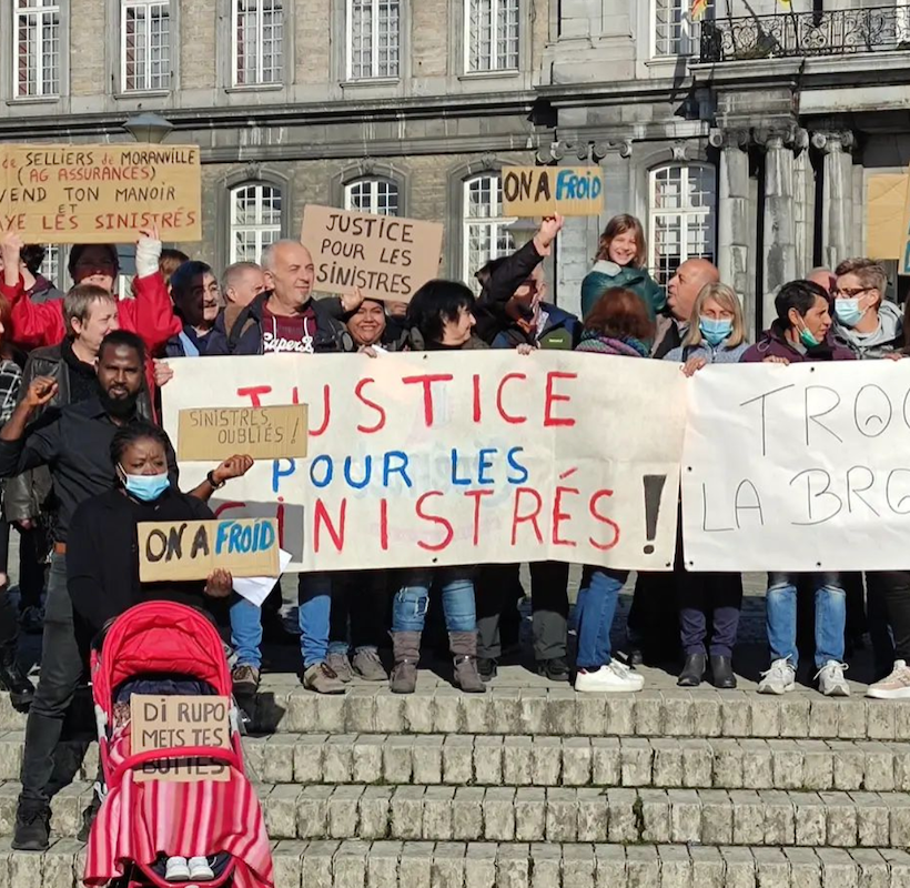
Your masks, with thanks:
M 291 569 L 673 563 L 685 423 L 675 365 L 557 351 L 170 363 L 175 446 L 181 410 L 309 405 L 307 458 L 257 464 L 212 503 L 277 517 Z M 181 465 L 183 490 L 211 467 Z

